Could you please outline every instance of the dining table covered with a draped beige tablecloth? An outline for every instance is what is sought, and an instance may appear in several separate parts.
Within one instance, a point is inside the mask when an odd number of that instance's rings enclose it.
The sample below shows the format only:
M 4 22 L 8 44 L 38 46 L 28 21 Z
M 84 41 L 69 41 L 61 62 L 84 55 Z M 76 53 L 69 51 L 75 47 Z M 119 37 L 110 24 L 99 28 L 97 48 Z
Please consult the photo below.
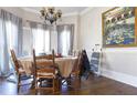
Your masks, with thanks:
M 61 76 L 66 79 L 70 76 L 72 70 L 74 69 L 74 64 L 77 60 L 77 56 L 63 56 L 63 58 L 55 58 L 55 63 L 59 66 L 59 71 Z M 32 74 L 33 71 L 33 58 L 32 56 L 21 56 L 18 58 L 19 63 L 24 69 L 27 74 Z M 49 59 L 36 59 L 36 64 L 49 64 L 52 63 L 52 60 Z

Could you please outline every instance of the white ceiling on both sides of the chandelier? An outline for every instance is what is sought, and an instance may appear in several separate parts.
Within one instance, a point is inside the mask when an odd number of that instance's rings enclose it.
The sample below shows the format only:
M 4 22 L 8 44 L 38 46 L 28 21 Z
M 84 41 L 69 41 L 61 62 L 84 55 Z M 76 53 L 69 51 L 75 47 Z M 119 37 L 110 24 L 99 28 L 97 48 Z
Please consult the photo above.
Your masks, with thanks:
M 55 7 L 55 9 L 61 9 L 63 14 L 80 13 L 87 7 Z M 23 10 L 39 13 L 42 7 L 23 7 Z

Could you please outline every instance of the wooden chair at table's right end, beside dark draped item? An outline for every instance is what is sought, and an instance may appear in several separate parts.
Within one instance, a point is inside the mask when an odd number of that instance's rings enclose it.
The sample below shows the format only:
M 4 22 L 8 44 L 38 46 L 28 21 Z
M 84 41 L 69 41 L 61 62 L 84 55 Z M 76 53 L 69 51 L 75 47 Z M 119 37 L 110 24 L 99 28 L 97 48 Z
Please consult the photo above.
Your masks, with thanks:
M 83 54 L 82 51 L 78 52 L 77 60 L 75 61 L 74 68 L 72 70 L 71 76 L 81 78 Z

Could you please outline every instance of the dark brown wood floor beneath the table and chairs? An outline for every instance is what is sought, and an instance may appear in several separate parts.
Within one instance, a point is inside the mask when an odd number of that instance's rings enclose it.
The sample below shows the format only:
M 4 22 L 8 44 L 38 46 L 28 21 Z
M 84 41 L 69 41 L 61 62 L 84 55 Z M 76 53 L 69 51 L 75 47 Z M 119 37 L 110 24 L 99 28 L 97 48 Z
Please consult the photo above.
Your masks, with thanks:
M 31 85 L 23 85 L 20 89 L 20 93 L 17 92 L 17 84 L 8 82 L 4 79 L 0 79 L 0 94 L 1 95 L 34 95 L 34 89 Z M 51 91 L 40 91 L 38 94 L 51 95 Z M 107 79 L 103 76 L 91 75 L 88 80 L 72 80 L 72 87 L 66 85 L 62 86 L 60 92 L 55 92 L 55 95 L 135 95 L 137 94 L 137 87 Z

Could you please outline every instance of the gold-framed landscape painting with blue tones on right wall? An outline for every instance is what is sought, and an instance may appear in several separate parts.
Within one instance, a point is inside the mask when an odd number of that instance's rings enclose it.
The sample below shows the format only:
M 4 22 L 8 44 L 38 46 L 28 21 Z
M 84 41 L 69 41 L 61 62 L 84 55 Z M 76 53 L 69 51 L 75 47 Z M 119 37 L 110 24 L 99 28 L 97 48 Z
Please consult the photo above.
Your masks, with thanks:
M 137 47 L 137 9 L 117 7 L 102 14 L 103 47 Z

